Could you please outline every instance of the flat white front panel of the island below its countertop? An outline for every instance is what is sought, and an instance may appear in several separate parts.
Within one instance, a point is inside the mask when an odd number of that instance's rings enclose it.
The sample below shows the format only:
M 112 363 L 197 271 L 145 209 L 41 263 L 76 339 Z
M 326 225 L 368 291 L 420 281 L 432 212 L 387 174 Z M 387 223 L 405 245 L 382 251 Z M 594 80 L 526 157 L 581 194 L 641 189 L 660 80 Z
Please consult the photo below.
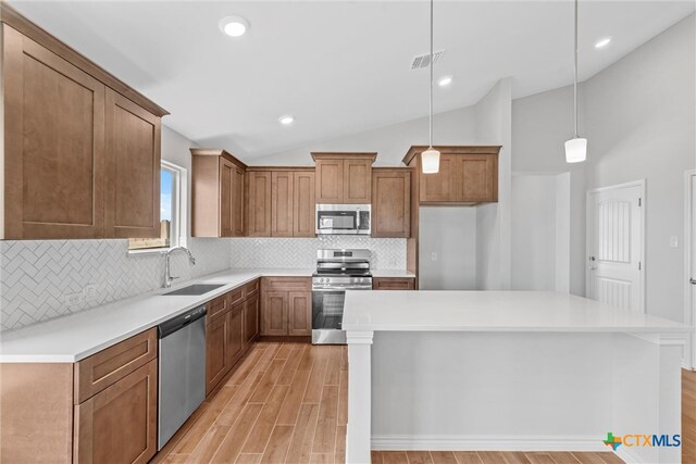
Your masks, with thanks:
M 374 449 L 606 451 L 612 334 L 383 333 Z

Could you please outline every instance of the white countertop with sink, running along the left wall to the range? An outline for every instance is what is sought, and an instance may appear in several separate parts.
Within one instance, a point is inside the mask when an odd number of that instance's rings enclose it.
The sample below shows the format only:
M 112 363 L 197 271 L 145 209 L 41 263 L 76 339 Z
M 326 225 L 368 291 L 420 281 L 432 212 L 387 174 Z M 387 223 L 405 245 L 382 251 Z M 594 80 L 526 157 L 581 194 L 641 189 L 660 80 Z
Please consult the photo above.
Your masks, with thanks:
M 0 362 L 72 363 L 259 277 L 310 277 L 314 269 L 237 268 L 191 279 L 66 317 L 0 334 Z M 225 284 L 201 296 L 161 296 L 192 284 Z

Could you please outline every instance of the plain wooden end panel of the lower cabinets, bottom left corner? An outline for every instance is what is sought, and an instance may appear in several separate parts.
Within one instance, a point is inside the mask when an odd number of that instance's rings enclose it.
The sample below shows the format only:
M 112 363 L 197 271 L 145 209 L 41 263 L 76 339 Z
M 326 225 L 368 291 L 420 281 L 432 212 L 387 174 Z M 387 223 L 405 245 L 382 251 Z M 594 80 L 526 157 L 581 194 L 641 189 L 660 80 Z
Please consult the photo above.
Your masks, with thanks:
M 0 364 L 0 462 L 71 463 L 73 364 Z

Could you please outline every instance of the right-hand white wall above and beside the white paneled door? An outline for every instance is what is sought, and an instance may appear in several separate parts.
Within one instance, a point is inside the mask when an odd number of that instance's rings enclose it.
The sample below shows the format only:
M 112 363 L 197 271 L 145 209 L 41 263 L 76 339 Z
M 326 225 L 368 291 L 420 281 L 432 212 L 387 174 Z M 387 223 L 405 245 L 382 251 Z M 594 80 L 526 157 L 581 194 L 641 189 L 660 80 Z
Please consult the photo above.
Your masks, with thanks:
M 675 321 L 688 278 L 683 179 L 696 165 L 695 22 L 692 14 L 585 84 L 588 188 L 647 179 L 646 308 Z

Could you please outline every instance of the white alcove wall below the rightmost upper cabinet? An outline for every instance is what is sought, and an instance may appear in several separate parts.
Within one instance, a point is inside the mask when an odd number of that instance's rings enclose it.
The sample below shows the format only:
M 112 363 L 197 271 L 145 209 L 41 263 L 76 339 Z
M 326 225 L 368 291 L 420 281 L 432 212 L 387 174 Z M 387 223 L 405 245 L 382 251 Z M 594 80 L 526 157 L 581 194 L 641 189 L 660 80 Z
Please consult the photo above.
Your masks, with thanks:
M 419 220 L 419 288 L 475 290 L 476 210 L 421 208 Z M 436 253 L 436 261 L 432 253 Z

